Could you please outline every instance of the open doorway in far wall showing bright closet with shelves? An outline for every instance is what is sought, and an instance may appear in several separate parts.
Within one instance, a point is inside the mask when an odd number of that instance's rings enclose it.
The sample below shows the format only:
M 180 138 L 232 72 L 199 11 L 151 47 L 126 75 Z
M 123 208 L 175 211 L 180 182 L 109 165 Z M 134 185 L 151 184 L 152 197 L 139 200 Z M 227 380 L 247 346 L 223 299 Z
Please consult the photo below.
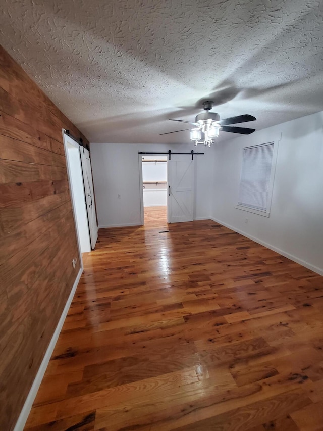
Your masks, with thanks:
M 144 224 L 167 222 L 167 157 L 141 157 Z

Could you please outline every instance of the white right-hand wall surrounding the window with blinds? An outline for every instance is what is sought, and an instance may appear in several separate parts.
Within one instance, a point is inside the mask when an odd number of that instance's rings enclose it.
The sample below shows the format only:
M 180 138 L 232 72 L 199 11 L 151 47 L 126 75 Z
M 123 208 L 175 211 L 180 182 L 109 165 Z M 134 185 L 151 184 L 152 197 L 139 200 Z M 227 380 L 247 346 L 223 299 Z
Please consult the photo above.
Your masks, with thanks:
M 323 274 L 323 112 L 214 146 L 212 218 Z M 242 148 L 278 141 L 270 217 L 236 209 Z M 248 224 L 245 223 L 248 218 Z

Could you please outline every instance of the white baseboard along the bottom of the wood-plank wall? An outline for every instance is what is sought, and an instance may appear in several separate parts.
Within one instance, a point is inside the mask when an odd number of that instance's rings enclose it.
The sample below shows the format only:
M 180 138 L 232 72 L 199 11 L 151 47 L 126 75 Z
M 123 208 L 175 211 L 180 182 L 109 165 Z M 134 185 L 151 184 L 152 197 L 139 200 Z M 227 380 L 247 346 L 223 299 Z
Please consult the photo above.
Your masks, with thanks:
M 83 272 L 82 268 L 80 268 L 80 270 L 79 270 L 79 272 L 78 272 L 78 274 L 76 276 L 76 279 L 74 281 L 73 288 L 71 290 L 70 296 L 69 296 L 69 298 L 68 298 L 68 300 L 67 300 L 67 302 L 65 304 L 63 313 L 62 313 L 61 318 L 59 320 L 59 323 L 58 323 L 58 325 L 57 325 L 57 327 L 55 329 L 55 332 L 53 333 L 53 336 L 52 336 L 52 338 L 50 340 L 49 346 L 48 346 L 48 348 L 46 350 L 45 356 L 44 356 L 44 358 L 43 358 L 43 360 L 42 360 L 42 362 L 40 364 L 40 367 L 38 369 L 38 372 L 36 374 L 34 382 L 33 382 L 32 386 L 31 386 L 29 394 L 28 394 L 28 396 L 26 398 L 25 404 L 24 404 L 24 406 L 23 406 L 23 408 L 21 410 L 21 413 L 20 413 L 19 418 L 17 420 L 16 426 L 14 428 L 14 431 L 23 431 L 23 429 L 24 429 L 24 426 L 25 426 L 26 421 L 28 419 L 28 416 L 29 416 L 32 404 L 33 404 L 33 402 L 34 402 L 34 400 L 36 398 L 39 386 L 41 384 L 41 380 L 42 380 L 42 378 L 43 378 L 43 376 L 45 374 L 48 362 L 49 362 L 49 360 L 51 358 L 52 352 L 53 352 L 53 350 L 55 348 L 56 342 L 57 342 L 57 340 L 59 338 L 59 335 L 61 333 L 61 329 L 63 327 L 64 321 L 65 321 L 65 317 L 67 316 L 67 313 L 69 311 L 69 308 L 70 308 L 70 305 L 72 303 L 72 300 L 73 300 L 73 297 L 74 297 L 77 285 L 78 285 L 78 283 L 80 281 L 82 272 Z

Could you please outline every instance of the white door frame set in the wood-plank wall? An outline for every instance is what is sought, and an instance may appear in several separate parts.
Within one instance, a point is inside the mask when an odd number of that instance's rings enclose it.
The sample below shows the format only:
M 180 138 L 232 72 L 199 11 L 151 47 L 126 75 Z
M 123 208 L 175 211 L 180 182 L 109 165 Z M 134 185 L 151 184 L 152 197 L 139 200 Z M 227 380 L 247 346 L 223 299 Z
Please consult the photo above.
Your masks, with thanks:
M 73 219 L 74 219 L 74 226 L 75 226 L 75 232 L 76 232 L 76 242 L 77 242 L 77 248 L 78 248 L 78 253 L 79 253 L 79 260 L 80 260 L 80 265 L 83 271 L 83 259 L 82 259 L 82 249 L 81 249 L 81 240 L 80 240 L 80 234 L 79 234 L 79 226 L 78 226 L 78 221 L 77 221 L 77 211 L 76 211 L 76 203 L 75 203 L 75 196 L 74 196 L 74 188 L 73 188 L 73 183 L 72 183 L 72 169 L 71 169 L 71 162 L 69 159 L 69 148 L 74 148 L 78 153 L 78 165 L 80 167 L 81 173 L 82 173 L 82 164 L 81 164 L 81 154 L 80 154 L 80 146 L 79 144 L 74 141 L 73 138 L 71 138 L 70 136 L 68 136 L 64 129 L 62 129 L 62 134 L 63 134 L 63 142 L 64 142 L 64 150 L 65 150 L 65 158 L 66 158 L 66 167 L 67 167 L 67 175 L 68 175 L 68 181 L 69 181 L 69 189 L 70 189 L 70 196 L 71 196 L 71 203 L 72 203 L 72 212 L 73 212 Z M 84 182 L 83 182 L 83 175 L 81 174 L 81 178 L 82 178 L 82 184 L 83 184 L 83 194 L 84 194 Z M 86 217 L 87 217 L 87 212 L 86 212 L 86 204 L 85 204 L 85 195 L 83 196 L 84 198 L 84 208 L 85 208 L 85 213 L 86 213 Z M 87 226 L 88 226 L 88 221 L 87 221 Z M 89 245 L 91 248 L 91 241 L 90 241 L 90 232 L 88 230 L 88 237 L 89 237 Z M 91 250 L 89 250 L 91 251 Z

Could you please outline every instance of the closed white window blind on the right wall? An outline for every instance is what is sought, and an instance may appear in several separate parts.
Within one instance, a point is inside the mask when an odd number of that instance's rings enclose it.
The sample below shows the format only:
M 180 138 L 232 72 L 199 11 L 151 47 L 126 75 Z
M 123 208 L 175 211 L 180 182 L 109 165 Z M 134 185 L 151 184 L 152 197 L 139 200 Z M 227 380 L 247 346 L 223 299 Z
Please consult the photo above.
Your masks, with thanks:
M 243 149 L 238 204 L 267 211 L 274 142 Z

